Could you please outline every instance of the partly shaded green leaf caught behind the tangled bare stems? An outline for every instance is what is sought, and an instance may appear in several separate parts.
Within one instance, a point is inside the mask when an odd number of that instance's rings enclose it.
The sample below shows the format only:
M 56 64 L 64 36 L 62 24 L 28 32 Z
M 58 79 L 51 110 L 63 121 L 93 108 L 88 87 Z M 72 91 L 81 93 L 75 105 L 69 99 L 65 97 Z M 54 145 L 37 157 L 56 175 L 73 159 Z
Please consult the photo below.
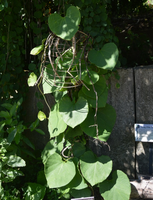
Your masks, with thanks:
M 59 91 L 64 85 L 65 76 L 66 72 L 63 70 L 56 72 L 51 64 L 47 65 L 44 69 L 42 81 L 44 94 Z

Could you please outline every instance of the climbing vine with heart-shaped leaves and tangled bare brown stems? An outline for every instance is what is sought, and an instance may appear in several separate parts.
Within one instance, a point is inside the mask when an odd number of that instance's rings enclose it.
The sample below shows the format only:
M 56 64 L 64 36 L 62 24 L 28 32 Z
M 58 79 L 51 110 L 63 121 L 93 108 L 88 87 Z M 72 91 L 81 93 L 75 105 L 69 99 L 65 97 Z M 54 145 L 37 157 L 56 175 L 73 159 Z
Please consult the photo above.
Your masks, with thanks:
M 97 46 L 78 30 L 80 20 L 75 6 L 68 7 L 63 17 L 49 16 L 51 33 L 42 44 L 40 76 L 32 73 L 28 79 L 30 86 L 40 89 L 42 84 L 44 98 L 51 93 L 56 101 L 48 117 L 51 140 L 42 152 L 47 186 L 58 189 L 65 199 L 89 197 L 99 188 L 105 200 L 128 200 L 127 176 L 120 170 L 112 172 L 111 159 L 97 157 L 88 146 L 91 137 L 107 144 L 115 124 L 115 110 L 107 104 L 107 79 L 117 65 L 118 48 L 109 41 Z M 40 46 L 31 54 L 39 52 Z M 43 112 L 38 117 L 46 119 Z

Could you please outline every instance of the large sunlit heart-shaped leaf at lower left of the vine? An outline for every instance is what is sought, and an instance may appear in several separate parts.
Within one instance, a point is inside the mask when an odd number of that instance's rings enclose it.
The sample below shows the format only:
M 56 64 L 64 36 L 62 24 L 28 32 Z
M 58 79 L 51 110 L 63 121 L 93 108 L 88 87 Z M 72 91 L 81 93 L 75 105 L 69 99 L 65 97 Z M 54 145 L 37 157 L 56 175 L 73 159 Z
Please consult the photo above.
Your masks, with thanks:
M 67 185 L 75 176 L 75 165 L 72 161 L 63 161 L 62 157 L 54 153 L 45 165 L 44 172 L 49 188 L 58 188 Z

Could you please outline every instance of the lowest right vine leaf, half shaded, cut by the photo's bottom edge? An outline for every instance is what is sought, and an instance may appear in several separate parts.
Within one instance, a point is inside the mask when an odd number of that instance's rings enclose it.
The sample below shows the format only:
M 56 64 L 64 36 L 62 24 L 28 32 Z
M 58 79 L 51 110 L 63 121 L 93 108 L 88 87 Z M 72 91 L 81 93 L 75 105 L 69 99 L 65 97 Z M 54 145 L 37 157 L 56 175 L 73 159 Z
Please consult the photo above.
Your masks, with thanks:
M 100 193 L 105 200 L 129 200 L 131 185 L 126 174 L 117 170 L 111 180 L 100 183 Z

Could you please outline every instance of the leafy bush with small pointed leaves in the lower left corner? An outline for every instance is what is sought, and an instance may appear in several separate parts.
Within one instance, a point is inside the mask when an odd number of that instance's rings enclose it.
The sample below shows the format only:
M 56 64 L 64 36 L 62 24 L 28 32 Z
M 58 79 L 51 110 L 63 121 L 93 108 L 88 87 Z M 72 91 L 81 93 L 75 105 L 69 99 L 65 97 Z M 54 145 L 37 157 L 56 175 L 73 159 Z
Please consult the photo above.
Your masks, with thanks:
M 38 131 L 43 133 L 42 130 L 37 129 L 39 121 L 33 122 L 29 128 L 23 125 L 20 120 L 18 110 L 22 104 L 22 99 L 17 103 L 10 104 L 4 103 L 1 105 L 0 111 L 0 196 L 2 200 L 5 199 L 22 199 L 23 193 L 26 199 L 32 199 L 35 195 L 37 188 L 37 199 L 43 199 L 45 194 L 45 186 L 39 183 L 23 183 L 25 168 L 29 168 L 29 160 L 36 159 L 34 145 L 23 134 L 25 130 Z M 24 159 L 22 158 L 24 157 Z M 26 160 L 26 161 L 25 161 Z M 27 170 L 28 170 L 27 169 Z M 35 170 L 37 168 L 35 167 Z M 36 173 L 36 172 L 35 172 Z M 33 174 L 34 176 L 34 174 Z M 30 177 L 31 179 L 31 177 Z M 30 180 L 29 179 L 29 180 Z M 41 174 L 39 172 L 38 181 L 40 182 Z M 36 180 L 35 180 L 36 181 Z M 13 187 L 12 184 L 13 183 Z M 15 187 L 16 186 L 16 187 Z M 27 190 L 26 190 L 27 188 Z M 39 188 L 39 190 L 38 190 Z M 24 192 L 24 190 L 25 192 Z M 23 190 L 23 191 L 22 191 Z M 39 198 L 38 198 L 39 191 Z M 36 199 L 36 198 L 34 198 Z

